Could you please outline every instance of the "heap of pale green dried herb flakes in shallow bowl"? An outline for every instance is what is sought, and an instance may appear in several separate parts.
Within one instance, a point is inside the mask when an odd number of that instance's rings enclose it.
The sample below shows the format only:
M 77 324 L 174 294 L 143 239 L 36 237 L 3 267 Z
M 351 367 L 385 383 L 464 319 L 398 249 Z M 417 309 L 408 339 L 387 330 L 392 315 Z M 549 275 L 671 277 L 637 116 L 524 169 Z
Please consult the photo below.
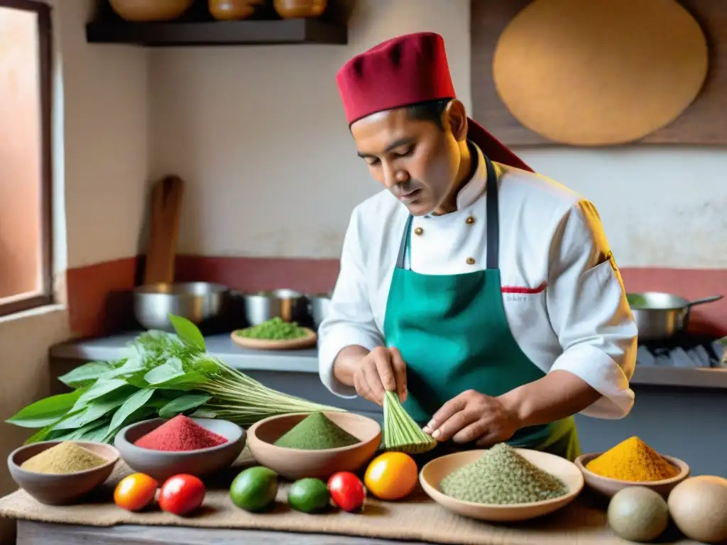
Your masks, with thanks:
M 439 484 L 447 496 L 476 504 L 531 504 L 568 493 L 563 482 L 531 464 L 506 443 L 490 448 Z

